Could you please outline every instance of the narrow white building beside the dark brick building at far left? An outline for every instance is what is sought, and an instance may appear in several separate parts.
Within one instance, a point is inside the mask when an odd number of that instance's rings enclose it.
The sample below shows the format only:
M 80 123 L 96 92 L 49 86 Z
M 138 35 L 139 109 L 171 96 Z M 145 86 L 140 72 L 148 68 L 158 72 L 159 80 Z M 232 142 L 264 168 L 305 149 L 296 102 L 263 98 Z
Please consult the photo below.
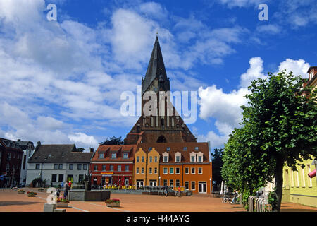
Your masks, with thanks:
M 34 144 L 31 141 L 21 141 L 18 140 L 18 146 L 23 150 L 23 157 L 20 166 L 20 184 L 26 183 L 27 177 L 27 161 L 30 159 L 34 152 Z

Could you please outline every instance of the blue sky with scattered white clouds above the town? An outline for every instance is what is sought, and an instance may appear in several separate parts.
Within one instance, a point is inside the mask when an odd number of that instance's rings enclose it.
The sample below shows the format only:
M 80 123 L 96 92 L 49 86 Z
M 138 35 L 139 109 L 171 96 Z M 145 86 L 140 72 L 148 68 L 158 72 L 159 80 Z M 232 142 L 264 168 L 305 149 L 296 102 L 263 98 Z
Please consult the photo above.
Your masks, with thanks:
M 187 126 L 222 148 L 252 80 L 317 65 L 316 11 L 316 0 L 0 0 L 0 137 L 86 151 L 125 138 L 138 117 L 123 117 L 120 95 L 141 85 L 157 33 L 171 90 L 197 92 Z

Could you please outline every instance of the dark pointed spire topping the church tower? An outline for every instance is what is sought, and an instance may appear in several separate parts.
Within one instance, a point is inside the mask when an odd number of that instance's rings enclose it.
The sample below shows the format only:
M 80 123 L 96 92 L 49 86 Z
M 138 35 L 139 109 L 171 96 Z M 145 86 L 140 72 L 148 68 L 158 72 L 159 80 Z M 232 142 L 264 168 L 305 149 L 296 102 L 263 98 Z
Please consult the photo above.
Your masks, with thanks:
M 147 73 L 142 81 L 142 94 L 149 88 L 149 85 L 153 83 L 155 78 L 160 80 L 163 90 L 170 90 L 170 81 L 166 76 L 166 70 L 163 61 L 163 55 L 161 52 L 159 37 L 156 35 L 156 40 L 151 54 L 151 59 L 149 60 L 149 65 L 147 66 Z

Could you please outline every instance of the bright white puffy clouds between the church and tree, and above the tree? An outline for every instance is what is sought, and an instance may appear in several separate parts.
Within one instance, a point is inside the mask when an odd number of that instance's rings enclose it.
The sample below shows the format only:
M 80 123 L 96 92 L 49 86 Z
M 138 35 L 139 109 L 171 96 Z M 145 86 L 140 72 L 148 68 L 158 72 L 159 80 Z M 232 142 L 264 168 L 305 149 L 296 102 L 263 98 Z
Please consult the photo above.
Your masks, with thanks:
M 246 73 L 240 76 L 240 88 L 232 90 L 230 93 L 224 93 L 221 88 L 216 85 L 211 85 L 207 88 L 200 87 L 199 117 L 204 120 L 210 118 L 216 119 L 215 126 L 218 131 L 209 131 L 207 135 L 197 136 L 200 141 L 211 141 L 212 148 L 219 148 L 228 140 L 228 135 L 234 128 L 240 126 L 242 119 L 242 109 L 240 106 L 247 105 L 247 99 L 244 97 L 249 90 L 247 87 L 251 85 L 251 81 L 257 78 L 267 78 L 263 74 L 263 60 L 261 57 L 252 57 L 249 60 L 249 69 Z M 309 69 L 309 64 L 303 59 L 293 60 L 286 59 L 278 66 L 278 71 L 273 74 L 287 69 L 288 72 L 293 71 L 294 75 L 302 75 L 306 77 L 306 71 Z

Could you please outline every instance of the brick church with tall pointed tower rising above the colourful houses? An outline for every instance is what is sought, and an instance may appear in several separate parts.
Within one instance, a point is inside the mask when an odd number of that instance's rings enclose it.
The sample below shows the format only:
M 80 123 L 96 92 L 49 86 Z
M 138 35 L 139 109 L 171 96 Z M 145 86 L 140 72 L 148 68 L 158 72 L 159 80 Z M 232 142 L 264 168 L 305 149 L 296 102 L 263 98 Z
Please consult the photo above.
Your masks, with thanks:
M 125 144 L 197 142 L 170 102 L 168 91 L 170 80 L 156 36 L 147 73 L 142 78 L 142 116 L 127 134 Z

